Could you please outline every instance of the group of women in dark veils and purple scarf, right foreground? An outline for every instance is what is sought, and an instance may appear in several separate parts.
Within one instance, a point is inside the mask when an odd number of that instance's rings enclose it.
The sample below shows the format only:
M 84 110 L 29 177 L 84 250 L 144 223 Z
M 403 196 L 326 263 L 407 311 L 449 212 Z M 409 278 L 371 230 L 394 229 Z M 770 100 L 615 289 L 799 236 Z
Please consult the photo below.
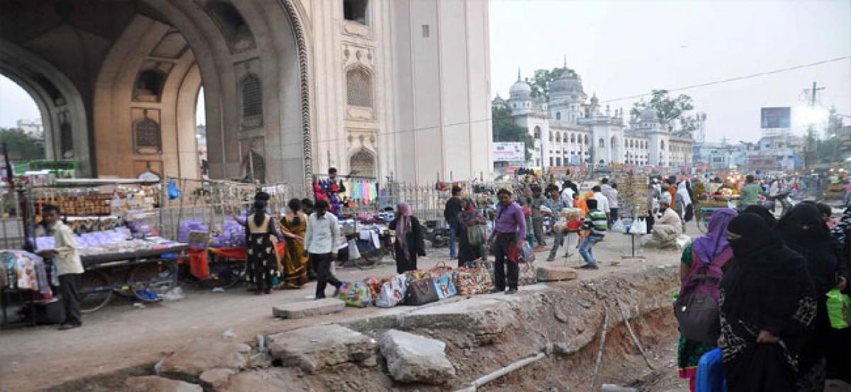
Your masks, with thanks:
M 708 232 L 683 251 L 680 295 L 714 284 L 719 305 L 717 319 L 705 321 L 717 340 L 687 338 L 695 327 L 688 315 L 680 319 L 680 376 L 694 390 L 701 356 L 720 348 L 731 391 L 822 391 L 825 379 L 851 382 L 851 330 L 831 327 L 825 295 L 848 293 L 851 207 L 832 229 L 813 202 L 779 221 L 759 204 L 740 210 L 712 213 Z M 697 271 L 709 267 L 722 270 L 720 281 L 699 281 Z

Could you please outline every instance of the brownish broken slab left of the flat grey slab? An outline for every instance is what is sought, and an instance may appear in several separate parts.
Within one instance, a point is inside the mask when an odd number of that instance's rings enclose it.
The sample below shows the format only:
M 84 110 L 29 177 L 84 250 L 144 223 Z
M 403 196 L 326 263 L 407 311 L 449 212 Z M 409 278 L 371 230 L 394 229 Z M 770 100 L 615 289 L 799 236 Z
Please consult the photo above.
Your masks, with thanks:
M 209 369 L 243 369 L 248 365 L 248 356 L 243 354 L 242 345 L 194 338 L 162 361 L 159 371 L 168 378 L 195 382 Z

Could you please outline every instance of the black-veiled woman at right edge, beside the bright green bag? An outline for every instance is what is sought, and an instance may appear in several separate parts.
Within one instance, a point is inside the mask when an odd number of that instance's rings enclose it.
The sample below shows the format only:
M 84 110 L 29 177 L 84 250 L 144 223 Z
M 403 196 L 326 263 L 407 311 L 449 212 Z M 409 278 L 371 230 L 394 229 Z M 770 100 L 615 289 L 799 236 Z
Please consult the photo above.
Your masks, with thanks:
M 825 294 L 834 288 L 845 289 L 848 268 L 842 258 L 839 242 L 831 236 L 814 203 L 800 203 L 792 208 L 780 219 L 775 230 L 788 247 L 803 256 L 813 280 L 818 311 L 814 332 L 801 353 L 798 387 L 804 391 L 822 391 L 825 389 L 826 361 L 831 361 L 834 356 L 831 354 L 834 351 L 832 347 L 836 346 L 842 336 L 842 332 L 831 327 Z M 848 347 L 843 349 L 847 350 Z M 836 361 L 833 362 L 835 364 Z M 834 364 L 831 364 L 831 368 Z

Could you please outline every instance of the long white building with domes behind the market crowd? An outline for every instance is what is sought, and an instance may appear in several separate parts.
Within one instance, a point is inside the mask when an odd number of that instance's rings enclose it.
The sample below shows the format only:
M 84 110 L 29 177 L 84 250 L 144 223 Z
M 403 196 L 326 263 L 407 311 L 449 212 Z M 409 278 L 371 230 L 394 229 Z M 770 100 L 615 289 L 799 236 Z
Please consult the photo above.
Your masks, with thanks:
M 534 138 L 529 162 L 536 168 L 608 165 L 682 167 L 692 164 L 692 139 L 677 138 L 663 127 L 653 110 L 625 124 L 624 110 L 600 106 L 596 94 L 585 94 L 582 78 L 565 65 L 550 84 L 549 100 L 534 96 L 528 81 L 517 71 L 509 99 L 497 96 L 493 105 L 511 109 L 518 125 Z

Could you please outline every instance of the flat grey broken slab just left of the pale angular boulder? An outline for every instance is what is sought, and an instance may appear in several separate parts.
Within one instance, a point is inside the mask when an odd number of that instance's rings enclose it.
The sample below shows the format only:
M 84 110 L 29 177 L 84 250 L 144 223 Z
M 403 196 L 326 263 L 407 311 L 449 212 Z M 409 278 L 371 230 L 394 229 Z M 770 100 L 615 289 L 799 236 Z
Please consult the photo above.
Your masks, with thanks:
M 281 332 L 268 340 L 271 356 L 283 366 L 311 373 L 345 362 L 369 364 L 375 355 L 373 338 L 337 324 Z

